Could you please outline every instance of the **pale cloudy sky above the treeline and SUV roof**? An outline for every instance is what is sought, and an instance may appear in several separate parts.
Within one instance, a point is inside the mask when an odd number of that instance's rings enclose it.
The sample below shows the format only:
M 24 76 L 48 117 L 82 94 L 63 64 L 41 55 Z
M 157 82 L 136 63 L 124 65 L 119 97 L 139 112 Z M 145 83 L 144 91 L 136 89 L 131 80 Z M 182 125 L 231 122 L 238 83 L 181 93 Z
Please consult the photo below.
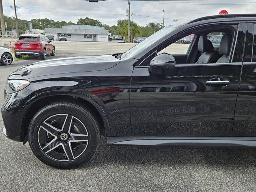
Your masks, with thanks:
M 162 0 L 162 1 L 130 1 L 133 21 L 140 26 L 149 22 L 163 22 L 164 26 L 189 22 L 203 16 L 216 15 L 221 10 L 229 14 L 256 13 L 256 0 Z M 4 14 L 15 16 L 13 0 L 3 0 Z M 110 26 L 117 20 L 127 19 L 128 1 L 107 0 L 92 3 L 84 0 L 16 0 L 19 19 L 31 20 L 48 18 L 55 21 L 65 20 L 76 23 L 79 18 L 93 18 Z

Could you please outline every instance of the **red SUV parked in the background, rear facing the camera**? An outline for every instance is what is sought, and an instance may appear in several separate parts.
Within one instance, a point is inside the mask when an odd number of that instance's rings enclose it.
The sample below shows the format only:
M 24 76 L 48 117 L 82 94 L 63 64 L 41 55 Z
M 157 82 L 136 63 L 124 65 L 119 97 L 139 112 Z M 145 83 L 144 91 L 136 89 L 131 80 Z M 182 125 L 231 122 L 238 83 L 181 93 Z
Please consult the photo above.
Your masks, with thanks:
M 46 59 L 47 54 L 55 56 L 55 46 L 48 37 L 38 34 L 23 34 L 14 44 L 16 58 L 22 55 L 40 56 Z

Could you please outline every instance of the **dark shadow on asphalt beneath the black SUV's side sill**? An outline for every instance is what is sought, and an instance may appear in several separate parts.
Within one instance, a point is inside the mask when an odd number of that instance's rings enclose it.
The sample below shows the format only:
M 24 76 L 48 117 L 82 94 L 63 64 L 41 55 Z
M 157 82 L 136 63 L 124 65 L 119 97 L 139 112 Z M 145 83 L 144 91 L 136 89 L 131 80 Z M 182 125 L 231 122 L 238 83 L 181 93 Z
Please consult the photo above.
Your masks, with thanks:
M 102 138 L 92 159 L 80 168 L 106 164 L 191 165 L 204 164 L 239 168 L 256 166 L 255 148 L 107 146 Z

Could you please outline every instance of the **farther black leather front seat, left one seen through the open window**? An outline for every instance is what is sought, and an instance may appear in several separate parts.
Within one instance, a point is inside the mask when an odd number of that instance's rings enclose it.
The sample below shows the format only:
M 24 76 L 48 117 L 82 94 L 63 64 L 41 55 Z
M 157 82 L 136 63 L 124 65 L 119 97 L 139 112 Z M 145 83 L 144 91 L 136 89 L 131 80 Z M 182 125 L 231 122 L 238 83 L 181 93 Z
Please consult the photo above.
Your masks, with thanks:
M 198 40 L 198 50 L 202 52 L 196 63 L 215 63 L 219 56 L 218 51 L 213 49 L 212 42 L 205 36 L 200 36 Z

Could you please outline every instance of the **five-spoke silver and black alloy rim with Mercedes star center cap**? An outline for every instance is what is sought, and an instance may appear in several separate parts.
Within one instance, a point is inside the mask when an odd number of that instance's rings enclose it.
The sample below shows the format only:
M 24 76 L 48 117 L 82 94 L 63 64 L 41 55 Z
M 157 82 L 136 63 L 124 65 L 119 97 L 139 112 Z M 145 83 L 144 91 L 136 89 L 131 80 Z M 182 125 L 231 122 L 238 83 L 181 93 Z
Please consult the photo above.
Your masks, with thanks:
M 89 142 L 84 124 L 70 114 L 56 114 L 42 122 L 38 143 L 44 154 L 58 161 L 72 161 L 81 156 Z

